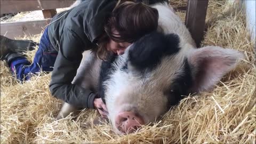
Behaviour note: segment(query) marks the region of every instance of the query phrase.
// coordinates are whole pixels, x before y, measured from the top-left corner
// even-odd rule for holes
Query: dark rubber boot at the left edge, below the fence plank
[[[6,54],[10,52],[25,52],[34,50],[34,46],[37,44],[30,40],[14,40],[5,36],[0,37],[0,60],[3,60]]]

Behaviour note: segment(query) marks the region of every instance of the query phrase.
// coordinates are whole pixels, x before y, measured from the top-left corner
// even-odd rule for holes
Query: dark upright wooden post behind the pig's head
[[[185,24],[199,47],[204,36],[205,17],[209,0],[188,1]]]

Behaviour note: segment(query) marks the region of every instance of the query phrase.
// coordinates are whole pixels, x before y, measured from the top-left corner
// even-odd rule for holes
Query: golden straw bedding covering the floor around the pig
[[[182,2],[183,3],[183,2]],[[210,1],[211,21],[202,45],[232,47],[244,52],[241,64],[217,85],[212,93],[183,99],[153,126],[118,136],[109,124],[82,129],[81,124],[97,116],[95,110],[81,111],[55,121],[59,100],[48,84],[50,74],[41,73],[24,84],[15,82],[1,62],[2,143],[255,143],[255,48],[246,32],[245,16],[226,1]],[[185,15],[179,13],[179,15]],[[39,41],[39,35],[33,37]],[[28,53],[29,60],[33,53]]]

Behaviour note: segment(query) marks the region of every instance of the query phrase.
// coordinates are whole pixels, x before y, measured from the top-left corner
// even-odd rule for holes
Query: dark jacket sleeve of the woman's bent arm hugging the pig
[[[71,84],[82,60],[82,50],[86,46],[84,41],[73,30],[63,31],[51,75],[50,91],[54,97],[75,107],[93,108],[95,94]]]

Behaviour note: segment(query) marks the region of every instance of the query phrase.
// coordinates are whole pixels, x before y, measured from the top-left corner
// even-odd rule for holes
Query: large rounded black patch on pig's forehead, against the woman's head
[[[131,65],[140,71],[154,69],[163,57],[179,52],[178,35],[164,35],[156,31],[141,37],[129,50]]]

